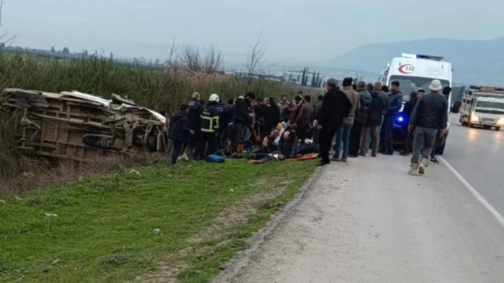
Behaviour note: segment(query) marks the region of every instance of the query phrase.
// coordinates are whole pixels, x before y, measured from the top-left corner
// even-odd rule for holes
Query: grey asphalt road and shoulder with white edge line
[[[330,164],[213,282],[504,282],[504,132],[452,126],[453,170]]]

